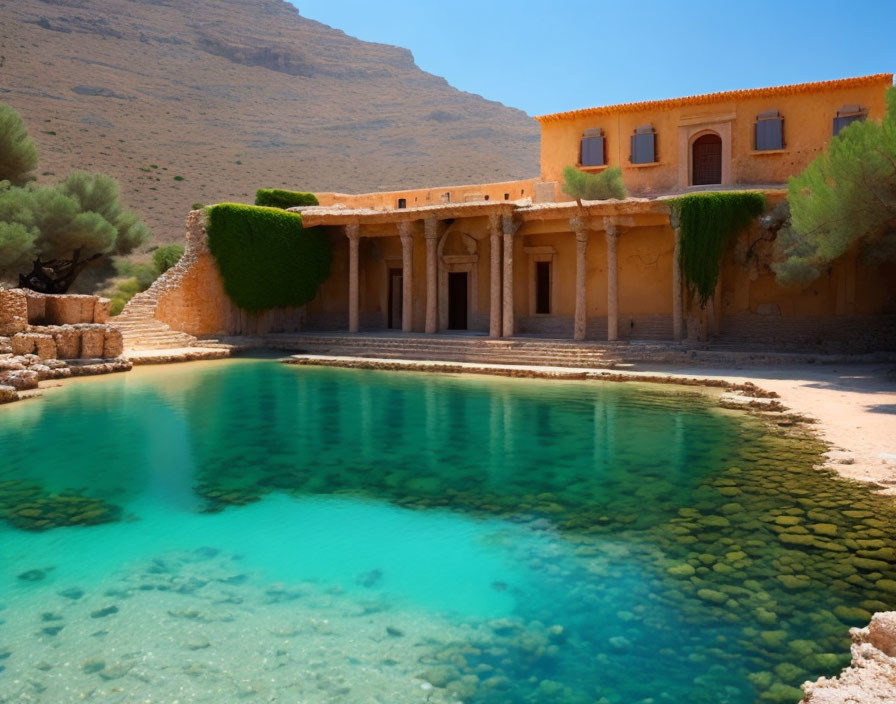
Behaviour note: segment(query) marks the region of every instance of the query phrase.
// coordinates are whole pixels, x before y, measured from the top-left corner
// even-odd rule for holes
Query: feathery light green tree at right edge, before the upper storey
[[[775,241],[783,284],[805,283],[858,246],[867,261],[896,259],[896,88],[882,122],[854,122],[790,179],[792,226]]]

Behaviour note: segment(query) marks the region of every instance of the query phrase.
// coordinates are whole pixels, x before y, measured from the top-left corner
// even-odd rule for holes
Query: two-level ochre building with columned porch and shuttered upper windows
[[[538,179],[318,194],[320,206],[300,210],[306,226],[333,228],[333,273],[286,319],[306,330],[491,337],[896,340],[896,266],[849,253],[810,285],[783,288],[758,223],[726,254],[707,309],[688,310],[668,204],[726,189],[779,202],[839,130],[882,118],[892,84],[878,74],[544,115]],[[631,197],[580,207],[561,190],[567,165],[618,166]],[[232,314],[157,317],[192,334],[247,325]]]

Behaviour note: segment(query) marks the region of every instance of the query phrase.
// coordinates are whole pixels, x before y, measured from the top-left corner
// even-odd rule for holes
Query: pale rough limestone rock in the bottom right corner
[[[805,682],[801,704],[881,704],[896,701],[896,611],[874,614],[852,628],[852,664],[838,677]]]

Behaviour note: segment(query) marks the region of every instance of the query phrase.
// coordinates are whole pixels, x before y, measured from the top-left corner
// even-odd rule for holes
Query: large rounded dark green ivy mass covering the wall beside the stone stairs
[[[249,311],[300,306],[330,275],[330,239],[302,216],[223,203],[208,209],[209,248],[230,299]]]

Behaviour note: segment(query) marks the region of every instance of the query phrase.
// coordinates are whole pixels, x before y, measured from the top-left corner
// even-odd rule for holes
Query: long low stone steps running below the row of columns
[[[225,338],[217,344],[288,350],[295,353],[377,359],[438,360],[478,364],[517,364],[606,369],[620,364],[612,345],[571,340],[438,335],[302,335]],[[203,340],[203,346],[216,341]]]

